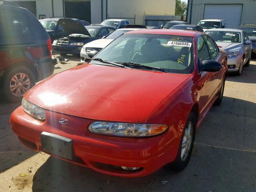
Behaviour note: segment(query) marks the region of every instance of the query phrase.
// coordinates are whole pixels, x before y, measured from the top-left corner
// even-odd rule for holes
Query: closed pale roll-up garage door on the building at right
[[[242,5],[205,5],[204,19],[223,19],[227,22],[227,28],[235,28],[240,25]]]

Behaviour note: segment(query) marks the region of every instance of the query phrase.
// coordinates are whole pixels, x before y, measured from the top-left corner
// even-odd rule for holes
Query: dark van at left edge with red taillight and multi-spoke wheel
[[[52,44],[34,14],[2,2],[0,0],[0,94],[10,102],[19,102],[36,82],[52,75]]]

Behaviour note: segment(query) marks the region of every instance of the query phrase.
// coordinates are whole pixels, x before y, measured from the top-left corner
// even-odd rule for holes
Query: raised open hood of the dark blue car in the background
[[[78,21],[68,18],[58,20],[58,24],[62,26],[67,35],[70,34],[84,34],[90,36],[88,30]]]

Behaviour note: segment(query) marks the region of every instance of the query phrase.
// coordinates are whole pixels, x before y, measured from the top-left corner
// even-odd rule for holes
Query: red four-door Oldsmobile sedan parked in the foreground
[[[90,56],[24,95],[10,118],[20,141],[115,176],[184,169],[196,128],[222,102],[226,52],[201,32],[137,30]]]

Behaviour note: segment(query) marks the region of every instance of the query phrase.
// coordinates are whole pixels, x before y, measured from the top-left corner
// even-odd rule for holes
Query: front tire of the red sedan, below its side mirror
[[[184,131],[182,133],[182,137],[180,139],[178,154],[177,154],[175,160],[171,163],[171,169],[174,171],[182,171],[188,165],[188,162],[190,160],[190,156],[192,153],[192,149],[194,146],[194,141],[195,141],[196,124],[197,124],[196,115],[193,112],[191,112],[188,115],[188,120],[186,122]],[[192,125],[192,127],[191,127],[191,125]],[[192,130],[192,133],[191,133],[191,138],[190,138],[190,145],[187,146],[189,148],[185,149],[185,151],[184,151],[184,148],[182,148],[182,143],[184,143],[184,135],[185,135],[185,132],[186,132],[186,129],[188,128],[188,126],[190,126],[190,132]],[[188,132],[186,132],[186,133],[188,133]]]

